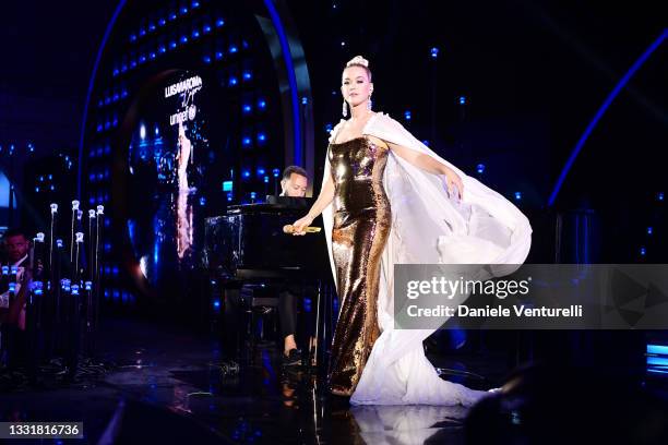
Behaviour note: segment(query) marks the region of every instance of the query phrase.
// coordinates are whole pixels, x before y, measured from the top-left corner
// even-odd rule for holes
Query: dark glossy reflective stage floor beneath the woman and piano
[[[629,388],[596,375],[545,371],[524,375],[515,389],[511,378],[506,387],[514,396],[494,396],[472,410],[349,407],[323,396],[309,370],[283,371],[272,344],[257,347],[238,374],[226,373],[211,338],[115,320],[105,322],[98,350],[109,363],[104,373],[68,385],[47,378],[38,387],[16,377],[11,387],[5,380],[0,394],[1,421],[83,421],[84,440],[2,443],[668,443],[654,442],[667,437],[661,380]],[[448,370],[444,377],[478,389],[503,383],[510,371],[505,357],[489,352],[432,361]],[[640,431],[644,442],[628,435]]]

